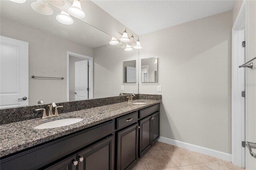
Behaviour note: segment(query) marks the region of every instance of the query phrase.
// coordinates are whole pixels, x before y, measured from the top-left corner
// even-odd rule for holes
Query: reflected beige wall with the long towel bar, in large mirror
[[[1,17],[1,36],[28,42],[29,105],[66,101],[67,51],[93,57],[93,48]],[[64,80],[31,76],[64,77]]]

